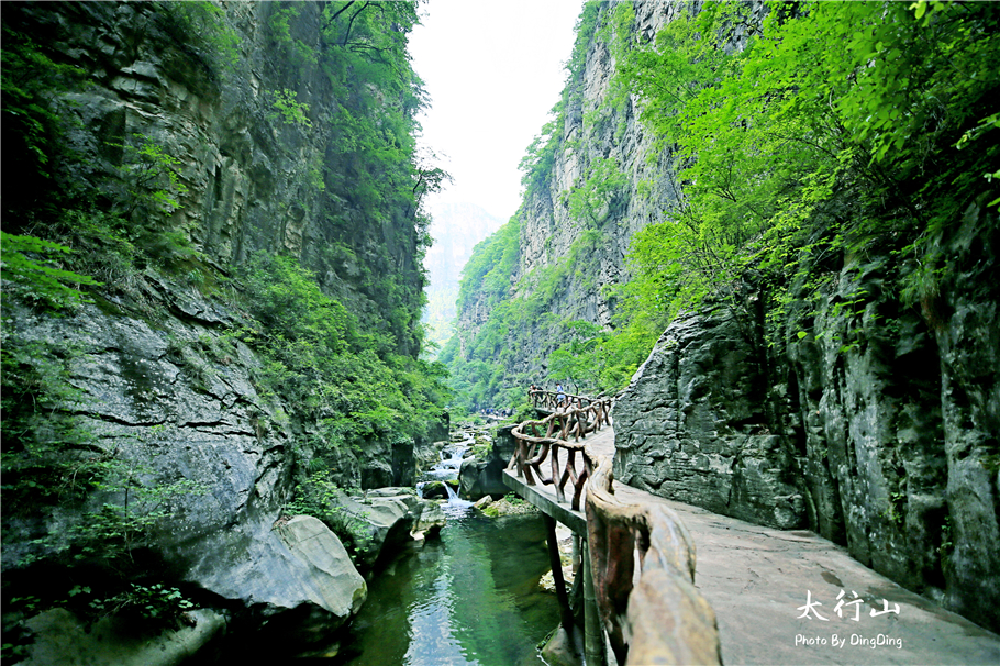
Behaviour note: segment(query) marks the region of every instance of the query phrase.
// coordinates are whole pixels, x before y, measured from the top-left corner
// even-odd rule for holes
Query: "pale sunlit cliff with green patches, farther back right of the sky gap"
[[[442,359],[484,404],[519,401],[521,388],[545,379],[567,323],[611,326],[610,288],[627,275],[632,235],[677,198],[669,149],[643,129],[635,99],[612,85],[611,9],[585,8],[563,100],[525,158],[515,221],[473,257],[484,269],[467,271],[457,334]],[[653,35],[678,11],[686,10],[637,3],[630,30]]]

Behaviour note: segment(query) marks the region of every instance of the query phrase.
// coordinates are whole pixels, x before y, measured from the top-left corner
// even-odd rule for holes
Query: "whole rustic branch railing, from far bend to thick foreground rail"
[[[536,407],[557,409],[549,402],[556,393],[531,395],[533,402],[537,396]],[[666,504],[632,504],[615,497],[611,459],[591,454],[579,441],[610,425],[610,400],[567,396],[569,400],[576,407],[511,431],[518,446],[508,469],[514,468],[529,486],[536,485],[535,477],[554,485],[559,502],[566,502],[564,487],[571,482],[574,511],[580,510],[586,492],[593,591],[618,663],[721,664],[715,613],[695,587],[695,547],[687,528]],[[546,458],[547,477],[542,473]]]

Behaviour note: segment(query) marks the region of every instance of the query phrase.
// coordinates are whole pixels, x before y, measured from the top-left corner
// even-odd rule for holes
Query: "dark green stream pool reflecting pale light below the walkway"
[[[555,629],[541,517],[489,519],[467,502],[444,507],[440,540],[413,544],[376,576],[341,643],[351,666],[538,666],[537,643]]]

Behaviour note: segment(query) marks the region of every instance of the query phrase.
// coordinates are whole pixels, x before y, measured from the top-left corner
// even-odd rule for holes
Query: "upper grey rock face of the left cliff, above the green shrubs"
[[[360,202],[353,157],[337,135],[331,78],[296,51],[322,48],[323,3],[298,4],[289,20],[296,45],[276,36],[280,4],[226,2],[222,9],[221,26],[235,40],[232,53],[216,53],[218,35],[181,32],[192,26],[178,22],[170,3],[19,8],[19,29],[45,35],[55,57],[79,67],[87,82],[65,92],[67,112],[79,120],[67,140],[85,157],[70,165],[69,178],[119,195],[108,190],[109,176],[129,159],[123,146],[134,144],[135,134],[146,136],[180,160],[187,188],[177,195],[180,207],[158,213],[157,224],[182,231],[222,269],[262,249],[295,256],[367,324],[377,325],[391,308],[408,308],[415,314],[409,329],[393,333],[399,353],[419,353],[416,211]],[[308,104],[308,126],[286,122],[276,110],[275,96],[286,90]],[[371,275],[389,276],[393,288]]]

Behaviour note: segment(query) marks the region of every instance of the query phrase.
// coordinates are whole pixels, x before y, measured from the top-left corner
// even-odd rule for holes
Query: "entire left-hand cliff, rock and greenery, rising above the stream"
[[[86,576],[109,578],[92,551],[107,536],[109,551],[136,540],[130,566],[143,580],[182,581],[210,604],[259,617],[297,609],[305,633],[364,600],[343,547],[318,559],[274,530],[318,466],[342,486],[412,484],[421,430],[370,413],[357,395],[301,390],[335,360],[309,354],[349,352],[342,388],[381,386],[388,403],[392,373],[416,363],[422,338],[416,81],[365,79],[378,66],[356,71],[348,40],[382,38],[384,59],[404,55],[413,8],[349,25],[337,9],[4,8],[4,67],[10,49],[43,74],[66,73],[38,93],[53,110],[44,118],[62,123],[46,173],[13,173],[13,157],[48,144],[13,136],[4,115],[4,232],[77,243],[59,251],[85,257],[68,266],[103,282],[52,313],[37,282],[24,282],[34,268],[15,273],[15,246],[4,247],[4,595],[58,598],[62,571],[41,581],[23,571],[67,553]],[[4,73],[10,118],[26,65],[20,79]],[[33,148],[15,155],[22,144]],[[29,259],[44,254],[26,247]],[[276,255],[292,259],[270,259],[280,275],[254,264]],[[295,317],[309,320],[285,321]],[[307,332],[293,340],[286,331],[298,324]],[[304,369],[288,373],[297,356]],[[354,434],[336,444],[345,429]],[[101,532],[101,515],[125,521],[129,543]]]

